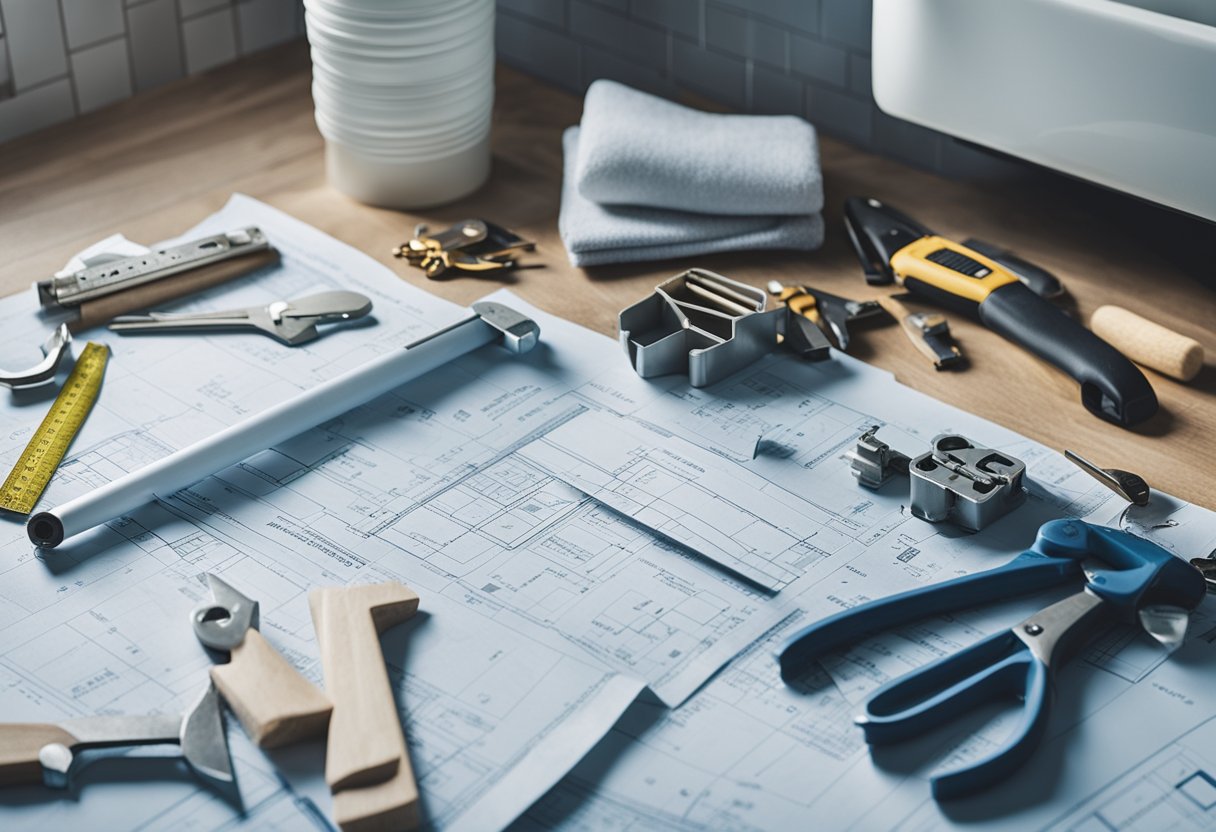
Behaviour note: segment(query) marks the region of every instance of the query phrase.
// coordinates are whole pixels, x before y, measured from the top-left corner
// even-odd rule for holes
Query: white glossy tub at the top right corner
[[[1216,221],[1212,23],[1216,0],[874,0],[874,97]]]

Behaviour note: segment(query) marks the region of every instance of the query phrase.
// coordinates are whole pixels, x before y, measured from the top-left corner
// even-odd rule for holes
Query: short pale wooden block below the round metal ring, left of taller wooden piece
[[[227,664],[212,668],[212,680],[263,748],[319,736],[330,724],[330,701],[257,630],[244,634]]]

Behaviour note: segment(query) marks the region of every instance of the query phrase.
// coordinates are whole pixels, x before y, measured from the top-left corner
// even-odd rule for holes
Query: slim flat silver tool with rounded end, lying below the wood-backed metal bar
[[[123,315],[109,324],[114,332],[179,332],[201,330],[254,330],[295,347],[320,337],[317,324],[338,324],[367,315],[372,302],[358,292],[320,292],[265,307],[213,313],[148,313]]]

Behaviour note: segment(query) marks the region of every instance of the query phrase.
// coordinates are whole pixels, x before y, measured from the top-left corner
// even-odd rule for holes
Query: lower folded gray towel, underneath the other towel
[[[811,249],[823,242],[823,218],[818,214],[714,217],[597,204],[579,192],[575,174],[581,156],[579,135],[576,127],[562,134],[565,163],[562,213],[557,220],[570,263],[576,266],[761,248]]]

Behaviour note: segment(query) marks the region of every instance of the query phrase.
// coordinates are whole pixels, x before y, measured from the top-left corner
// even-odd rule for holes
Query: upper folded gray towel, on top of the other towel
[[[704,113],[597,80],[581,127],[574,179],[592,202],[732,215],[823,209],[818,140],[796,116]]]

